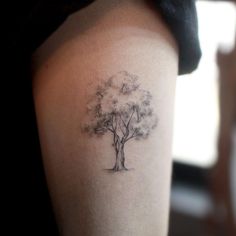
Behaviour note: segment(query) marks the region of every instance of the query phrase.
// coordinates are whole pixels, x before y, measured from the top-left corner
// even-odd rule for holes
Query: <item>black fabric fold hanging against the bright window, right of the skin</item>
[[[179,45],[179,74],[195,70],[201,58],[194,0],[155,1]]]

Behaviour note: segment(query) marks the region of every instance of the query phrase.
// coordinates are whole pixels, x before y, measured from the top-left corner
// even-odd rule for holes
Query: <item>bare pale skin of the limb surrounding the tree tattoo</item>
[[[33,94],[47,182],[62,236],[166,236],[178,48],[144,0],[98,0],[73,14],[33,57]],[[114,165],[111,132],[83,132],[101,81],[119,71],[152,94],[157,126]],[[131,167],[131,168],[130,168]],[[130,169],[129,169],[130,168]]]

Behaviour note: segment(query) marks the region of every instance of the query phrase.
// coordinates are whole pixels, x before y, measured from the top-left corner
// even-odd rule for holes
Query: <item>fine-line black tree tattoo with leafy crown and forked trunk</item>
[[[83,125],[83,130],[90,135],[112,135],[115,150],[112,171],[128,170],[125,145],[132,139],[148,138],[157,126],[151,101],[150,92],[140,88],[138,76],[121,71],[102,81],[88,102],[89,123]]]

